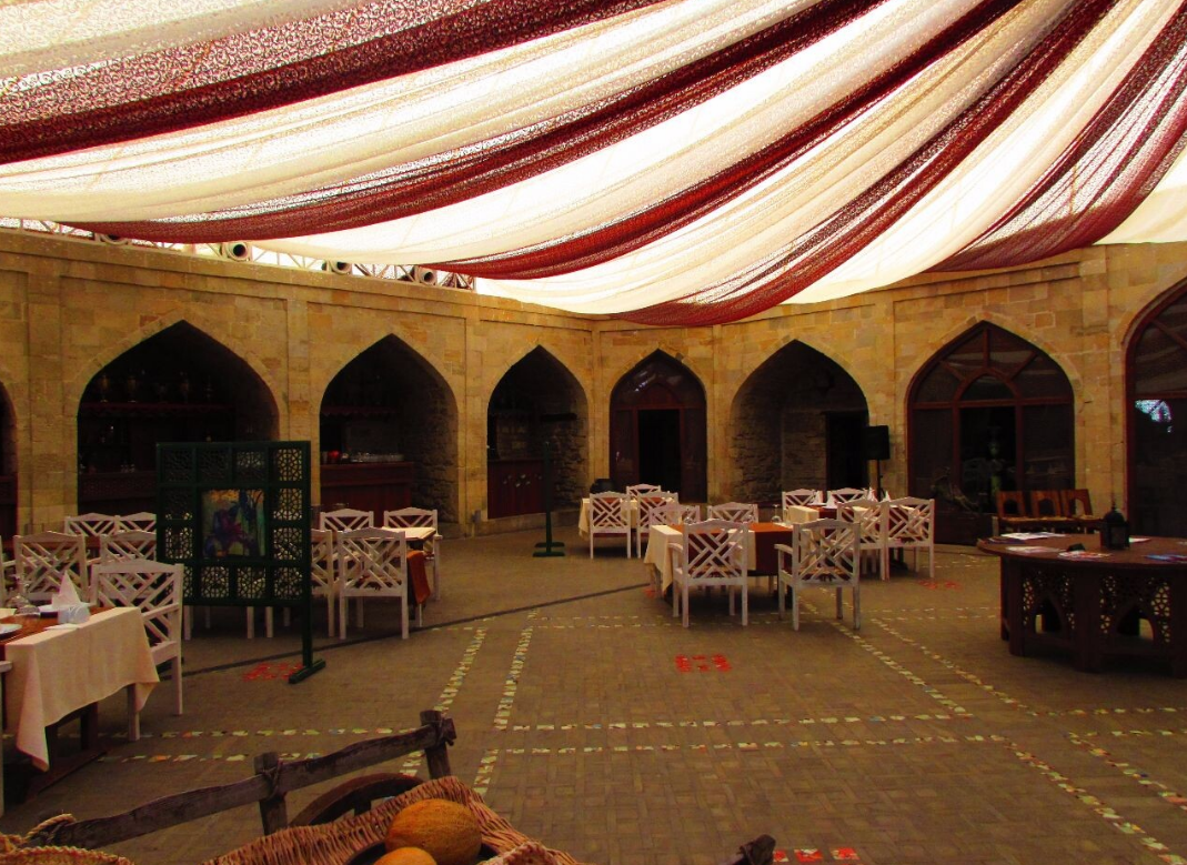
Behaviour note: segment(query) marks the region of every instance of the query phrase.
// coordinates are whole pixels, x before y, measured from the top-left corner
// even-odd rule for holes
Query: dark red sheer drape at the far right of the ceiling
[[[1088,246],[1150,193],[1187,144],[1187,8],[997,224],[934,271],[1007,267]]]

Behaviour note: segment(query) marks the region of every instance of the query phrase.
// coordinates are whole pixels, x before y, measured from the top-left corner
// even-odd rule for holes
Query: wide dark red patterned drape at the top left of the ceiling
[[[279,108],[660,1],[439,0],[426,14],[421,4],[374,0],[49,75],[0,90],[0,164]]]

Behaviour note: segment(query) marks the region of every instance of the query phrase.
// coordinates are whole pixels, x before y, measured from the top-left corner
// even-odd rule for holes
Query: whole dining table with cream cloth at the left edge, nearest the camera
[[[5,731],[40,772],[32,791],[102,755],[101,700],[126,689],[131,719],[159,678],[134,606],[97,610],[78,624],[59,624],[52,613],[0,619],[0,631],[13,625],[18,630],[0,634],[0,657],[12,666],[5,674]],[[82,720],[82,750],[55,753],[57,724],[75,715]]]

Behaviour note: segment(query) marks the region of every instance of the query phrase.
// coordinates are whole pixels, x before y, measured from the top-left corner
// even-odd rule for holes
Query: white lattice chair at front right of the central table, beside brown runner
[[[853,630],[862,628],[861,561],[857,526],[842,520],[813,520],[795,527],[792,546],[779,553],[779,618],[786,610],[785,590],[792,593],[792,627],[800,629],[800,592],[831,589],[837,593],[837,618],[844,618],[842,594],[853,594]]]

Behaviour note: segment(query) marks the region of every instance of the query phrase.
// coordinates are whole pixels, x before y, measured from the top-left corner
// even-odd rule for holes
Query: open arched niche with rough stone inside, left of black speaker
[[[792,342],[743,382],[734,399],[734,495],[779,502],[781,490],[865,486],[865,394],[827,356]]]

